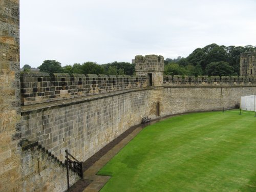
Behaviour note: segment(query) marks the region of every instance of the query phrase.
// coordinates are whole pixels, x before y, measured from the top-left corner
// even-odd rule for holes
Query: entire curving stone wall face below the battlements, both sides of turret
[[[233,108],[251,86],[165,86],[54,101],[22,108],[22,137],[38,141],[61,161],[68,149],[85,161],[141,118]],[[160,113],[157,115],[157,103]]]

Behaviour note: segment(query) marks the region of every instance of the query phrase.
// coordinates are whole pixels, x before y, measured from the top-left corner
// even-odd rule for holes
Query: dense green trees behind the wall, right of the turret
[[[219,75],[237,76],[240,71],[240,54],[256,51],[256,46],[219,46],[210,44],[197,48],[186,58],[166,59],[166,75]]]

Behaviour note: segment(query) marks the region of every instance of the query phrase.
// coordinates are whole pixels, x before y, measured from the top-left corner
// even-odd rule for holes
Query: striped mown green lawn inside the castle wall
[[[256,117],[207,112],[145,127],[98,175],[103,191],[256,191]]]

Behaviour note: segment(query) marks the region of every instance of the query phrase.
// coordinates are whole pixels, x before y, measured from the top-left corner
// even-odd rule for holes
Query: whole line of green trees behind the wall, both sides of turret
[[[219,46],[210,44],[204,48],[197,48],[186,58],[164,61],[166,75],[225,75],[237,76],[240,71],[240,54],[256,51],[256,46]],[[24,71],[30,71],[25,65]],[[61,67],[56,60],[45,60],[38,69],[40,72],[52,73],[80,73],[80,74],[108,74],[108,75],[135,75],[135,65],[130,62],[111,62],[99,65],[97,62],[74,63]]]

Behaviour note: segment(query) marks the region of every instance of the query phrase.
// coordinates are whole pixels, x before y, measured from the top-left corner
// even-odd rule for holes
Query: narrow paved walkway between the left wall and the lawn
[[[83,192],[98,192],[105,183],[111,178],[110,176],[96,175],[101,167],[108,163],[127,143],[129,143],[140,131],[142,126],[137,127],[130,135],[125,137],[117,145],[115,145],[108,153],[102,156],[91,167],[83,172],[83,179],[92,180],[93,182],[88,185]]]

